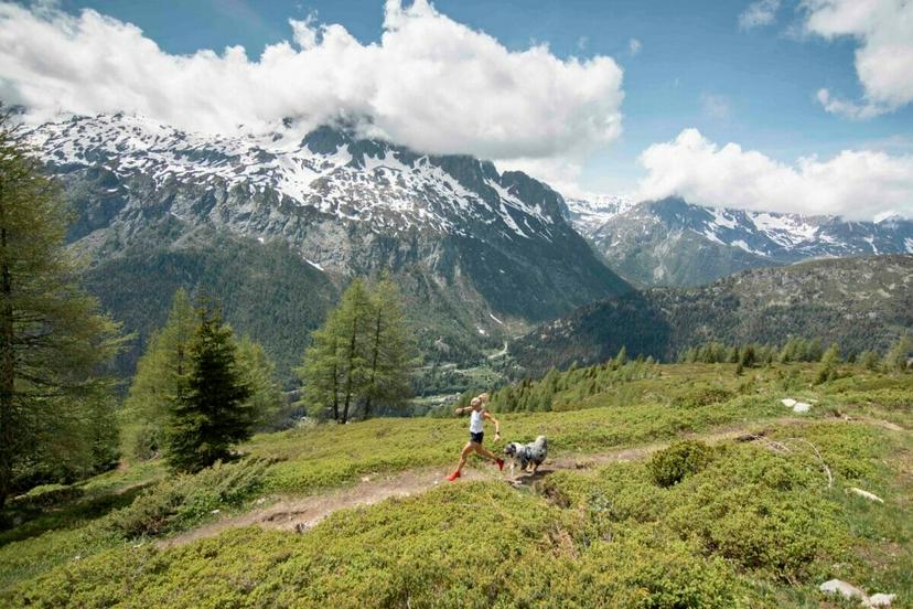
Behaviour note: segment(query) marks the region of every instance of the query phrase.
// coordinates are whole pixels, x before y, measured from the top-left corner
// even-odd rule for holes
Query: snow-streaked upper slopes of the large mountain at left
[[[498,174],[491,162],[429,157],[320,128],[288,133],[207,138],[136,116],[77,117],[35,130],[33,143],[57,165],[99,165],[119,178],[143,175],[152,188],[240,188],[377,232],[412,227],[469,236],[468,221],[496,225],[505,237],[550,239],[559,197],[549,189],[518,196],[525,175]],[[471,168],[461,165],[475,165]],[[466,169],[477,173],[460,181]],[[527,181],[529,179],[526,179]]]

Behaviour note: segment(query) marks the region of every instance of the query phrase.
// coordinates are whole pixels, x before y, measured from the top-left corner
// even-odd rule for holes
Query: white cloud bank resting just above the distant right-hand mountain
[[[678,195],[692,203],[759,211],[913,217],[913,156],[844,150],[828,160],[778,162],[737,143],[719,147],[697,129],[640,156],[642,199]]]

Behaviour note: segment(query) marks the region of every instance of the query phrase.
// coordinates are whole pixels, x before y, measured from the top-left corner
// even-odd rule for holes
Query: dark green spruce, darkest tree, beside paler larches
[[[232,445],[248,439],[256,423],[232,330],[206,302],[197,316],[186,385],[171,402],[165,426],[167,459],[176,471],[198,471],[229,458]]]

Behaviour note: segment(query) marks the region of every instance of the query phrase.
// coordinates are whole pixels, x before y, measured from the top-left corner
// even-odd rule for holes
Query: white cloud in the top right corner
[[[818,92],[824,108],[866,119],[913,101],[913,2],[909,0],[803,0],[805,31],[835,39],[852,36],[856,73],[863,88],[861,103]]]

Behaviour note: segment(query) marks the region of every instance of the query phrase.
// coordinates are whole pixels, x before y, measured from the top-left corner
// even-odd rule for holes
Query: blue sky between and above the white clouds
[[[853,1],[858,0],[760,0],[755,3],[766,3],[769,8],[772,4],[776,10],[771,23],[751,29],[740,28],[739,21],[751,4],[749,0],[437,0],[433,8],[449,20],[493,36],[509,52],[547,44],[550,54],[560,61],[609,56],[623,70],[620,92],[624,98],[617,108],[622,116],[621,135],[590,142],[586,153],[569,153],[572,164],[580,170],[571,177],[576,188],[613,193],[637,190],[647,172],[638,164],[638,156],[653,145],[675,140],[685,129],[697,129],[702,139],[690,139],[698,142],[698,148],[735,142],[742,151],[763,154],[764,163],[782,163],[794,172],[799,172],[799,158],[828,161],[842,150],[881,152],[890,157],[885,162],[907,163],[913,153],[913,104],[904,101],[910,98],[909,89],[900,90],[900,97],[893,98],[901,103],[893,101],[889,109],[883,109],[887,94],[880,92],[881,98],[873,97],[871,86],[860,79],[855,54],[867,40],[889,40],[888,35],[903,39],[906,31],[883,36],[878,32],[902,22],[896,15],[904,11],[910,18],[913,9],[903,7],[902,0],[867,0],[881,6],[881,22],[860,24],[847,18],[836,26],[818,26],[817,34],[803,29],[812,23],[810,7],[833,4],[826,8],[839,12],[840,4],[850,6]],[[406,7],[409,3],[405,2]],[[241,45],[251,62],[257,62],[268,45],[292,40],[289,19],[315,15],[314,24],[341,24],[363,45],[380,40],[385,20],[384,3],[368,0],[63,0],[58,7],[73,15],[92,8],[132,23],[168,54],[187,55],[204,49],[222,53],[226,46]],[[858,15],[852,19],[859,21]],[[913,23],[913,18],[906,23]],[[823,34],[826,28],[838,35]],[[850,35],[839,35],[840,28]],[[913,31],[909,33],[913,41]],[[637,41],[636,53],[632,52],[633,40]],[[867,119],[826,111],[816,98],[823,88],[850,103],[876,99],[882,109]],[[529,129],[535,129],[531,125]],[[668,153],[679,154],[684,146]],[[490,149],[481,147],[480,154]],[[549,160],[563,161],[562,154],[558,151]],[[663,157],[656,161],[657,167],[663,162],[672,167],[678,158]],[[738,171],[752,171],[752,162],[739,160]],[[896,175],[900,171],[906,180],[905,172],[913,172],[911,168],[895,163],[880,174]],[[778,171],[773,165],[767,169]],[[835,165],[824,170],[837,169]],[[567,178],[546,169],[540,177],[559,183]],[[666,175],[653,178],[656,183],[668,182]],[[872,180],[870,175],[863,178]],[[686,182],[691,184],[694,180],[683,180],[668,188],[716,203],[709,200],[717,196],[713,193],[719,189],[699,184],[688,191]],[[853,192],[861,192],[864,185],[856,184]],[[904,182],[901,186],[900,194],[892,191],[900,201],[892,209],[913,210],[913,203],[909,207],[903,203],[913,197],[913,185]],[[846,206],[847,196],[841,196]],[[827,207],[826,202],[820,205]],[[836,203],[833,207],[824,211],[845,212]]]

